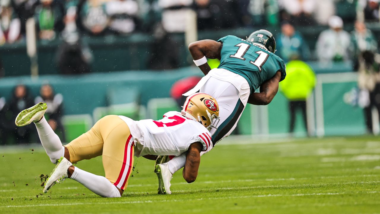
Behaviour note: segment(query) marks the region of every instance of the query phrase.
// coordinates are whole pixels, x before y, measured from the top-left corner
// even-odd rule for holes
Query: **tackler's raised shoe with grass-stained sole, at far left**
[[[22,110],[14,121],[16,126],[26,126],[32,122],[38,122],[44,116],[47,105],[44,102],[40,102],[29,109]]]

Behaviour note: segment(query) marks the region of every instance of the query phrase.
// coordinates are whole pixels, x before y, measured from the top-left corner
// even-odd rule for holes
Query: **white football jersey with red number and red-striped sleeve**
[[[139,120],[119,116],[127,123],[135,141],[135,156],[174,155],[187,151],[193,142],[201,142],[203,151],[212,149],[210,132],[202,124],[179,112],[167,112],[161,120]]]

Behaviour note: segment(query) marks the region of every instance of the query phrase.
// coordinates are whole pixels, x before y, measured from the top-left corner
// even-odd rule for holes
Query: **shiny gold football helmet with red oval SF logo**
[[[209,131],[219,123],[219,105],[214,97],[195,93],[186,98],[182,115],[201,123]]]

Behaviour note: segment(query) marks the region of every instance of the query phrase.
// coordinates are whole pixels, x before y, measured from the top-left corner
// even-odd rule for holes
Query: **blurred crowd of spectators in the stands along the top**
[[[0,6],[0,44],[25,45],[26,22],[32,18],[39,44],[61,42],[55,64],[62,74],[90,72],[92,51],[82,37],[133,33],[154,41],[146,69],[181,67],[181,59],[170,56],[184,50],[177,47],[173,34],[185,32],[188,11],[195,12],[200,31],[278,29],[277,54],[285,61],[348,61],[358,57],[358,49],[377,48],[364,23],[379,21],[378,0],[0,0]],[[345,25],[352,30],[356,20],[351,35],[343,30]],[[330,30],[305,41],[300,30],[313,30],[310,26]]]

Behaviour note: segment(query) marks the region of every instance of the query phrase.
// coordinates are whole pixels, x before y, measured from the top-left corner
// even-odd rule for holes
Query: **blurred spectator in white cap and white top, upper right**
[[[330,29],[319,35],[316,44],[317,57],[321,62],[339,62],[350,59],[350,34],[343,30],[343,21],[339,16],[329,19]]]

